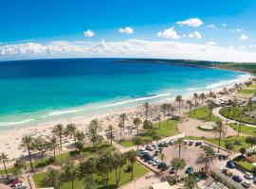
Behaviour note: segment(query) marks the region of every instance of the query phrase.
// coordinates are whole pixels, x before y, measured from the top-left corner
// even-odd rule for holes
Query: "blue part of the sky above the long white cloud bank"
[[[62,45],[79,41],[106,46],[107,42],[144,40],[256,50],[255,0],[1,0],[0,10],[1,60],[19,59],[23,52],[11,58],[9,44],[29,43],[27,48],[33,48],[31,43],[60,41]],[[26,59],[26,54],[21,57]]]

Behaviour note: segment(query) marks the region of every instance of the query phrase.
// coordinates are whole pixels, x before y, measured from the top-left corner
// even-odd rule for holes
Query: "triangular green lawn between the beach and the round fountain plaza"
[[[211,117],[209,116],[209,108],[208,106],[203,106],[200,108],[197,108],[192,110],[191,112],[188,112],[187,115],[194,118],[194,119],[200,119],[203,121],[221,121],[219,117],[216,117],[215,115],[211,114]]]

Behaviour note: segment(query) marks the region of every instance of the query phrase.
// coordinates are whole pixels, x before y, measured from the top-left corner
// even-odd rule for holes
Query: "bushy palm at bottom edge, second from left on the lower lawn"
[[[71,181],[71,189],[74,189],[74,181],[78,176],[78,168],[74,163],[69,163],[64,166],[64,180]]]

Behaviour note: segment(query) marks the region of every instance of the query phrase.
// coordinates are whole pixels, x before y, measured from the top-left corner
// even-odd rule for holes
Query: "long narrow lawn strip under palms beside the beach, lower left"
[[[107,147],[111,147],[109,146],[106,142],[102,142],[99,146],[95,146],[94,148],[92,146],[87,146],[84,147],[82,150],[82,153],[79,153],[78,151],[70,151],[67,153],[63,153],[60,155],[56,156],[56,163],[62,163],[63,161],[69,160],[71,158],[75,158],[76,156],[90,156],[94,153],[96,153],[97,151],[101,150],[102,148],[107,148]],[[46,165],[52,164],[53,162],[50,160],[50,158],[45,158],[45,159],[41,159],[41,160],[36,160],[33,162],[33,166],[35,168],[39,168],[39,167],[44,167]],[[27,166],[29,167],[29,164],[27,163]],[[8,169],[9,173],[12,172],[13,167],[10,167]],[[0,170],[0,175],[4,175],[5,174],[5,170]]]

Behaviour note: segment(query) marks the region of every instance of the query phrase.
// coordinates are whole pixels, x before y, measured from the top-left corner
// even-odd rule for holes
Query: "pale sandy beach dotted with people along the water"
[[[254,77],[252,75],[249,75],[250,77],[247,78],[249,80],[251,77]],[[233,87],[235,83],[240,82],[246,82],[247,80],[240,80],[233,82],[231,84],[226,85],[226,88]],[[182,95],[183,100],[192,99],[193,93],[205,93],[208,94],[210,91],[218,93],[220,92],[224,87],[220,86],[216,89],[207,89],[207,90],[195,90],[190,91],[188,94]],[[18,158],[21,155],[26,155],[22,150],[18,149],[20,145],[21,137],[25,134],[32,134],[33,136],[46,136],[49,135],[51,132],[51,128],[56,124],[63,124],[66,126],[69,123],[75,123],[78,126],[78,129],[82,129],[83,131],[86,129],[86,125],[94,118],[98,118],[102,121],[104,129],[108,125],[113,125],[116,129],[119,130],[118,127],[118,121],[119,121],[119,114],[121,112],[126,112],[128,114],[128,117],[131,119],[127,122],[128,127],[132,127],[132,119],[135,118],[137,115],[142,117],[143,116],[143,110],[141,108],[141,104],[143,104],[145,101],[141,101],[140,104],[137,104],[135,106],[127,106],[122,108],[110,109],[106,112],[94,112],[91,114],[86,115],[80,115],[80,116],[73,116],[72,118],[64,118],[61,120],[53,120],[43,123],[38,123],[35,125],[27,125],[27,126],[19,126],[19,127],[13,127],[11,129],[7,130],[1,130],[1,138],[0,138],[0,151],[5,151],[9,154],[10,159]],[[154,107],[154,111],[157,111],[159,108],[159,105],[163,102],[170,102],[175,105],[174,97],[168,98],[168,99],[162,99],[157,100],[156,102],[150,103],[151,107]]]

